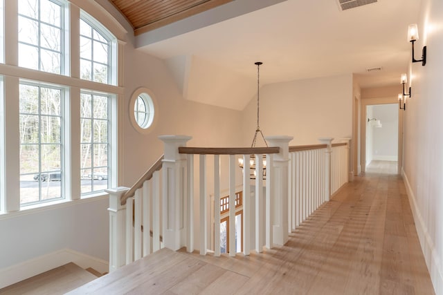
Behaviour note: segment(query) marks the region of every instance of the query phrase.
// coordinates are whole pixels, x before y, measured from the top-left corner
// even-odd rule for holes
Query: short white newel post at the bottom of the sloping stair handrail
[[[109,193],[109,272],[126,264],[125,208],[120,198],[129,191],[127,187],[106,189]]]

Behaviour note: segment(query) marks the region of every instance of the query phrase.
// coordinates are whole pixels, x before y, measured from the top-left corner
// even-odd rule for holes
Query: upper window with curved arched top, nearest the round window
[[[111,83],[111,42],[105,34],[80,19],[80,77],[93,82]]]

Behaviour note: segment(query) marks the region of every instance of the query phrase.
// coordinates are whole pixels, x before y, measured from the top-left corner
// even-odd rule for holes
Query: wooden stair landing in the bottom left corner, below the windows
[[[0,294],[64,294],[96,278],[75,263],[67,263],[0,289]]]

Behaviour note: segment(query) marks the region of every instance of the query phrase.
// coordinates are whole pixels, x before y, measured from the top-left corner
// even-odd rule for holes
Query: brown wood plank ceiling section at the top
[[[125,15],[134,34],[166,26],[233,0],[109,0]]]

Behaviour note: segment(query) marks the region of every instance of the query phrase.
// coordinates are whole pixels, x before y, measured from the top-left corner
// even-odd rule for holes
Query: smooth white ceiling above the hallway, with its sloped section
[[[251,3],[233,1],[140,35],[136,44],[165,59],[186,99],[237,110],[255,94],[255,61],[263,62],[261,85],[354,73],[361,88],[372,88],[399,84],[406,73],[407,28],[417,22],[420,0],[345,11],[336,0],[254,1],[273,5],[233,17],[228,12]],[[366,71],[374,67],[382,70]]]

